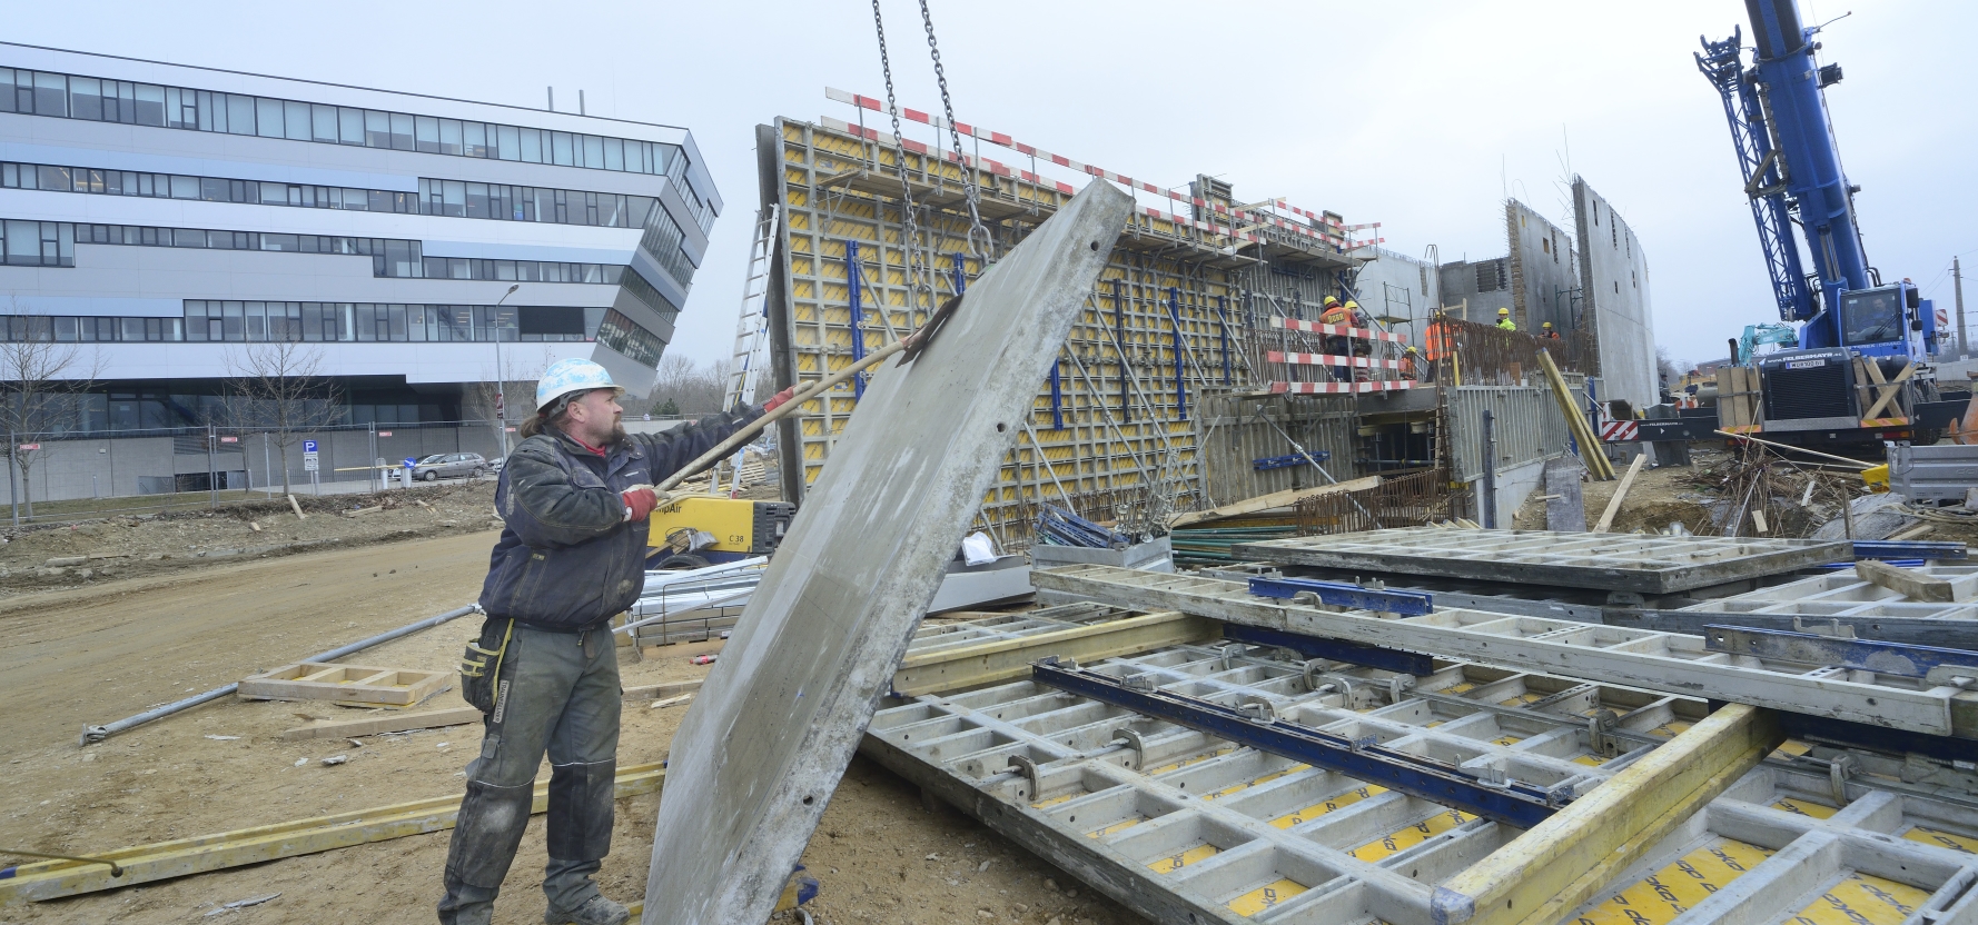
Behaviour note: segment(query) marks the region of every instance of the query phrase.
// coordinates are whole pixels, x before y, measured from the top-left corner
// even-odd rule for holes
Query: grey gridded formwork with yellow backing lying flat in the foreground
[[[1149,646],[1088,668],[1183,702],[1268,704],[1280,723],[1580,800],[1628,787],[1707,723],[1707,706],[1681,696],[1280,652]],[[1509,868],[1533,858],[1511,824],[1161,715],[1033,680],[896,704],[866,755],[1153,921],[1927,925],[1978,911],[1978,777],[1925,779],[1873,753],[1786,743],[1654,828],[1624,866],[1535,893],[1561,864]],[[1519,905],[1466,905],[1480,883]],[[1578,899],[1523,905],[1557,895]]]

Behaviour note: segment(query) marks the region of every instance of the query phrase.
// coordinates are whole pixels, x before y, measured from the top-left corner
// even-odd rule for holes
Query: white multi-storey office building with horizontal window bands
[[[684,128],[0,43],[0,336],[77,344],[83,431],[283,340],[342,423],[487,417],[494,338],[641,397],[720,208]]]

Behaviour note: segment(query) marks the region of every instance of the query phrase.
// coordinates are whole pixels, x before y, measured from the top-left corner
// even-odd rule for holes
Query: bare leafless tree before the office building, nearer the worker
[[[281,459],[281,492],[291,494],[289,447],[342,415],[336,387],[322,376],[322,350],[271,340],[227,352],[225,366],[227,425],[267,435]]]

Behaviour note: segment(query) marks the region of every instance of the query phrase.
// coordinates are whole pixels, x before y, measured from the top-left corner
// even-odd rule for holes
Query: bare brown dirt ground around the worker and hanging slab
[[[392,530],[445,520],[411,508],[360,518],[362,530],[382,524],[386,532],[378,536],[394,536]],[[14,561],[45,559],[57,549],[164,546],[180,540],[178,528],[184,528],[182,547],[249,540],[241,534],[245,522],[190,520],[63,538],[30,534],[0,547],[0,565],[20,567]],[[370,735],[360,745],[279,741],[305,715],[364,715],[334,706],[225,700],[99,745],[77,745],[85,723],[131,715],[473,601],[494,534],[469,532],[465,520],[441,530],[433,538],[267,559],[194,559],[192,567],[136,577],[115,577],[113,569],[113,577],[81,579],[81,587],[0,599],[0,714],[10,717],[0,745],[6,781],[0,848],[89,854],[461,793],[463,767],[479,751],[479,725]],[[16,549],[22,544],[47,546],[24,555]],[[477,619],[469,617],[346,662],[451,670],[475,631]],[[710,668],[688,658],[718,648],[720,642],[653,648],[639,662],[621,650],[623,682],[704,676]],[[425,706],[459,704],[449,690]],[[667,757],[680,715],[682,708],[627,702],[619,763]],[[324,767],[320,761],[332,755],[348,755],[348,763]],[[613,854],[599,876],[609,895],[631,899],[643,889],[657,808],[659,795],[619,800]],[[431,921],[447,838],[445,832],[407,836],[0,907],[0,923]],[[498,923],[542,921],[536,883],[544,860],[542,816],[536,816],[504,885]],[[1141,921],[961,812],[930,812],[914,787],[862,759],[833,797],[803,862],[823,883],[811,905],[823,923]],[[222,903],[275,891],[281,895],[273,901],[208,919]]]

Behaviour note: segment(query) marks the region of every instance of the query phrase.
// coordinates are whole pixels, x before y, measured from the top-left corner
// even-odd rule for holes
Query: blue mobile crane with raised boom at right
[[[1867,261],[1853,208],[1861,188],[1847,182],[1828,123],[1826,89],[1842,67],[1816,59],[1820,28],[1802,24],[1794,0],[1745,0],[1745,8],[1756,43],[1751,65],[1743,32],[1733,30],[1723,42],[1703,40],[1697,67],[1731,121],[1778,316],[1798,326],[1796,350],[1739,358],[1758,368],[1762,389],[1762,423],[1747,429],[1790,443],[1934,443],[1929,431],[1952,413],[1929,366],[1936,314],[1915,285],[1883,283]],[[1895,395],[1881,401],[1885,391]]]

